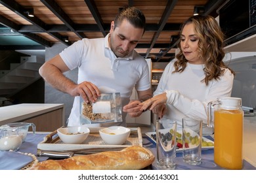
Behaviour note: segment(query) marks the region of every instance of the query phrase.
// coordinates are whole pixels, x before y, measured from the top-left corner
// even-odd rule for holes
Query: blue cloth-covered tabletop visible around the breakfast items
[[[26,164],[31,163],[31,159],[26,159],[26,154],[33,154],[38,161],[45,161],[48,157],[37,156],[37,144],[43,141],[44,137],[48,135],[47,132],[37,131],[35,134],[28,133],[26,141],[22,143],[17,152],[0,152],[0,170],[19,170],[24,169]],[[212,136],[205,136],[207,139],[213,141]],[[144,148],[148,148],[155,156],[155,160],[152,165],[146,167],[149,170],[158,170],[156,163],[156,143],[152,141],[148,135],[142,133],[142,145]],[[219,167],[213,160],[214,149],[209,148],[202,150],[202,163],[200,165],[188,165],[184,163],[182,159],[182,151],[176,154],[176,168],[177,170],[224,170],[223,167]],[[243,170],[255,170],[256,167],[252,163],[249,163],[246,159],[243,160]]]

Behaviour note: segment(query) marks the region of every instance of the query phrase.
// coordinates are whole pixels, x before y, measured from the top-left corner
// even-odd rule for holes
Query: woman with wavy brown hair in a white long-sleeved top
[[[144,101],[141,110],[150,107],[160,118],[180,125],[185,116],[206,124],[207,103],[230,97],[232,91],[234,71],[223,62],[223,39],[213,17],[188,18],[182,25],[177,60],[165,67],[154,97]]]

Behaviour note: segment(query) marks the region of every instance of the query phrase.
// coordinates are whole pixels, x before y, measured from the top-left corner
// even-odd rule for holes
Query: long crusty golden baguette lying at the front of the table
[[[72,158],[49,159],[33,165],[30,170],[139,170],[151,165],[155,157],[141,146],[120,151],[107,151]]]

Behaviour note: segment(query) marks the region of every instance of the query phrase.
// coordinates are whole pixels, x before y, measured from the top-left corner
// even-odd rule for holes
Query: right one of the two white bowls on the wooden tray
[[[127,141],[131,129],[122,126],[111,126],[99,130],[100,137],[110,145],[121,145]]]

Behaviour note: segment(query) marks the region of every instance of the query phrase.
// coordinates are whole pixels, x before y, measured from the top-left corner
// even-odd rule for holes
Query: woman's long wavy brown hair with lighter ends
[[[223,75],[224,68],[230,69],[223,62],[225,55],[223,50],[224,35],[212,16],[191,16],[182,25],[181,33],[187,24],[194,24],[196,35],[199,37],[198,52],[205,64],[205,78],[202,82],[207,85],[210,80],[218,80]],[[177,61],[175,61],[175,71],[173,73],[182,73],[188,62],[181,50],[181,39],[179,39],[178,47],[180,52],[176,56]],[[234,75],[234,71],[232,69],[230,71]]]

